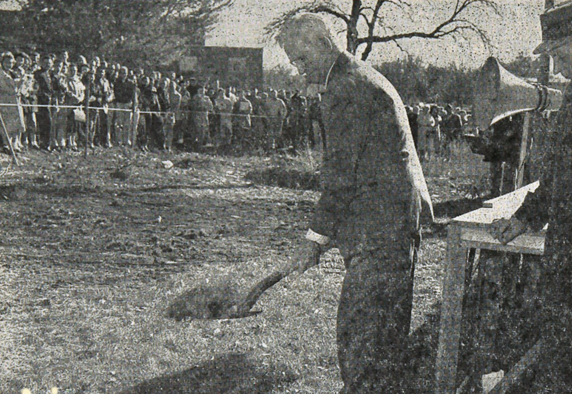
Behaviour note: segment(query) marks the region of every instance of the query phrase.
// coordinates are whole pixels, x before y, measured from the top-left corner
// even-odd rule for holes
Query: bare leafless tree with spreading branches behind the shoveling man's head
[[[454,39],[463,38],[468,41],[476,37],[484,45],[490,46],[490,39],[482,27],[474,20],[475,18],[471,15],[471,12],[482,11],[499,15],[498,6],[492,0],[451,0],[450,11],[443,18],[435,18],[435,21],[431,21],[433,23],[430,29],[426,31],[421,29],[395,31],[385,23],[388,15],[399,13],[403,18],[412,20],[411,15],[415,13],[415,1],[375,0],[375,2],[366,2],[352,0],[349,13],[341,8],[341,3],[344,2],[335,2],[333,0],[308,2],[274,19],[265,27],[266,33],[275,33],[284,22],[301,12],[332,15],[344,22],[347,39],[346,49],[355,55],[358,48],[365,45],[362,60],[366,60],[371,53],[374,43],[394,42],[402,49],[400,41],[406,38],[442,39],[451,37]],[[367,31],[364,31],[362,35],[360,35],[358,30],[361,18],[364,19],[367,26]],[[387,34],[379,34],[380,30]]]

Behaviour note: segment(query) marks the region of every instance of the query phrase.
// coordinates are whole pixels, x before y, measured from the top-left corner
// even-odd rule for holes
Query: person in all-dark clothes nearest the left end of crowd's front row
[[[34,71],[34,79],[38,86],[38,111],[36,112],[36,120],[38,122],[39,145],[47,148],[50,142],[51,119],[55,104],[55,89],[53,83],[53,67],[54,61],[51,55],[45,55],[42,58],[42,67]]]

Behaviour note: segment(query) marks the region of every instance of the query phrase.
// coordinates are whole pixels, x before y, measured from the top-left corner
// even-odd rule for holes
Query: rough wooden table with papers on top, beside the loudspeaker
[[[506,245],[490,235],[491,223],[510,218],[521,206],[528,192],[534,192],[538,182],[514,192],[484,202],[483,208],[451,220],[447,235],[447,261],[443,274],[442,309],[439,347],[436,360],[436,394],[455,394],[459,358],[459,339],[463,326],[463,295],[467,249],[486,249],[543,255],[544,232],[523,234]]]

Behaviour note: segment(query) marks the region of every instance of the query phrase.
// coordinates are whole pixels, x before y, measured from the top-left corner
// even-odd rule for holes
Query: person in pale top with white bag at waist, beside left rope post
[[[82,66],[82,65],[80,65]],[[85,99],[85,85],[81,82],[78,65],[72,64],[67,73],[66,103],[70,106],[81,106]],[[82,127],[81,119],[85,123],[85,111],[82,108],[67,110],[67,146],[78,150],[78,133]]]

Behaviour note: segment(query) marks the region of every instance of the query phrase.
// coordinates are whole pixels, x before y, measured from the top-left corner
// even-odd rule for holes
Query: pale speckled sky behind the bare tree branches
[[[351,7],[351,0],[335,0],[344,10]],[[562,0],[560,0],[562,1]],[[373,1],[372,1],[373,2]],[[395,31],[428,30],[435,21],[442,21],[448,7],[454,0],[410,0],[414,8],[414,21],[400,17],[395,10],[388,9],[387,25]],[[455,42],[452,39],[428,40],[406,39],[402,46],[408,54],[419,57],[426,64],[476,68],[493,55],[501,61],[510,61],[519,54],[529,55],[541,42],[539,15],[544,10],[544,0],[495,0],[500,15],[472,14],[473,20],[486,31],[492,47],[486,49],[478,41],[471,43]],[[284,11],[301,5],[301,0],[235,0],[220,15],[219,23],[206,39],[207,45],[264,46],[264,67],[272,68],[287,63],[287,58],[275,44],[264,42],[264,26]],[[364,3],[368,3],[365,0]],[[394,11],[394,12],[391,12]],[[331,21],[336,30],[343,25]],[[339,45],[345,47],[344,34],[339,34]],[[380,63],[395,58],[407,57],[406,53],[393,43],[374,46],[368,61]]]

